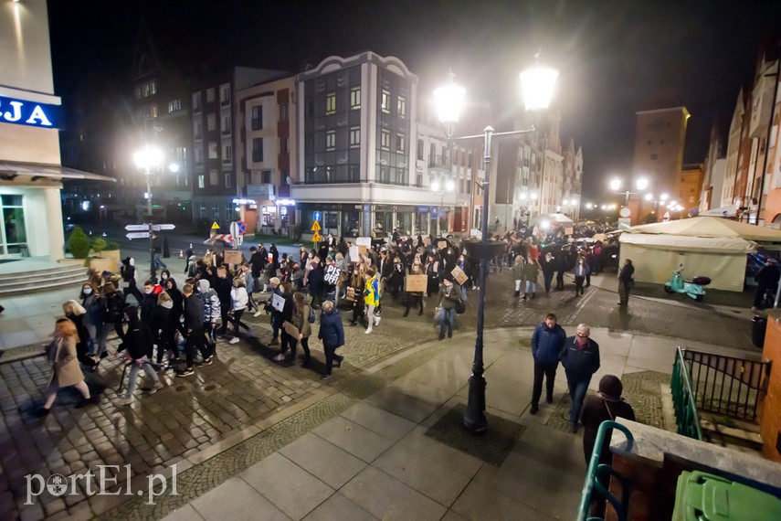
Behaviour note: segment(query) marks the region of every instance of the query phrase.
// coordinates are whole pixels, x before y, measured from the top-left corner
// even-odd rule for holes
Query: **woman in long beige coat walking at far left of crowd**
[[[54,400],[57,399],[57,391],[61,388],[73,386],[79,389],[81,400],[76,404],[77,409],[94,402],[76,358],[78,341],[79,333],[76,331],[76,325],[67,318],[59,318],[54,326],[52,341],[46,348],[46,356],[51,365],[51,377],[48,380],[46,402],[37,409],[37,416],[46,416],[49,413]]]

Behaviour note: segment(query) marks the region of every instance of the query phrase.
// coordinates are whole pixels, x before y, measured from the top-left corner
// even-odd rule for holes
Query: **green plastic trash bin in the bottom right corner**
[[[781,519],[781,499],[744,484],[699,471],[683,472],[675,490],[673,521]]]

